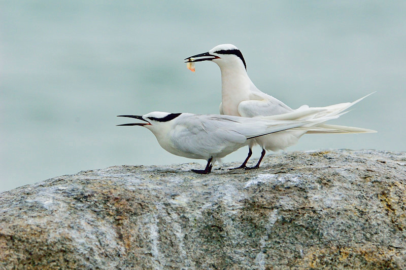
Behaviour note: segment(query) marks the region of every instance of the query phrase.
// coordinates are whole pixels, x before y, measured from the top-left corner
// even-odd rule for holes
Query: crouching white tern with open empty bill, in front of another
[[[189,159],[206,160],[204,170],[192,171],[207,174],[216,161],[221,161],[229,153],[248,145],[253,139],[288,129],[294,129],[295,132],[303,132],[301,129],[304,129],[306,132],[317,124],[340,116],[337,114],[314,119],[314,114],[320,111],[322,109],[309,110],[306,115],[303,114],[301,120],[154,111],[145,115],[118,115],[144,122],[118,126],[142,126],[149,129],[166,151]]]

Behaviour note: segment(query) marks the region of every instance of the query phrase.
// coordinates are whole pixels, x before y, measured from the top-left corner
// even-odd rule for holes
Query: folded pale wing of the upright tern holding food
[[[292,111],[293,109],[282,101],[262,92],[251,93],[250,100],[242,101],[238,106],[238,112],[243,117],[268,116]]]

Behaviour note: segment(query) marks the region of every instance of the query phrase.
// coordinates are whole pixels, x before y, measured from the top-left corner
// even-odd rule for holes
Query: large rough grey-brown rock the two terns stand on
[[[1,193],[0,269],[406,268],[405,152],[200,167],[114,166]]]

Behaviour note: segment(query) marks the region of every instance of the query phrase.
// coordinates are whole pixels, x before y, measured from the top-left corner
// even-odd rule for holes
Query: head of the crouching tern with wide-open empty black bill
[[[172,126],[173,123],[172,120],[174,120],[181,114],[182,113],[153,111],[144,115],[117,115],[118,117],[135,118],[146,122],[146,123],[122,124],[117,126],[143,126],[154,132],[159,129],[164,129],[164,127]]]

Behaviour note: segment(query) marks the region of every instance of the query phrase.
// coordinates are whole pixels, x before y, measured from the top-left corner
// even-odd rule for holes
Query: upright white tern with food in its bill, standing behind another
[[[280,120],[300,120],[308,111],[322,109],[314,115],[315,118],[333,116],[340,114],[355,103],[361,101],[368,95],[354,101],[335,104],[327,107],[312,108],[303,105],[298,109],[292,109],[282,101],[261,92],[250,80],[247,74],[247,64],[241,51],[231,44],[222,44],[210,51],[186,58],[186,63],[200,61],[211,61],[220,67],[221,71],[221,103],[220,114],[235,115],[240,117],[255,117],[258,115],[279,115]],[[194,70],[193,70],[194,71]],[[369,94],[370,95],[370,94]],[[248,156],[244,163],[233,169],[257,169],[265,156],[265,149],[278,151],[295,144],[305,133],[372,133],[375,130],[320,125],[319,130],[313,128],[309,131],[288,130],[276,134],[270,134],[251,140],[249,143]],[[261,157],[254,167],[247,167],[246,164],[252,155],[252,147],[259,144],[262,147]]]

